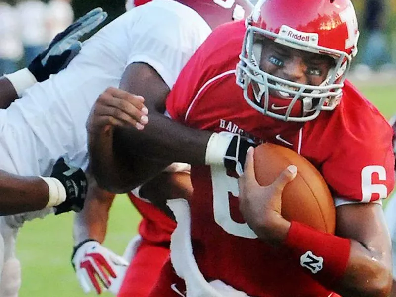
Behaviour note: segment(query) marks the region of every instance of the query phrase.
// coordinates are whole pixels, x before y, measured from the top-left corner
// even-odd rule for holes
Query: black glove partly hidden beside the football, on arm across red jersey
[[[256,146],[252,140],[236,134],[224,156],[224,166],[240,176],[244,172],[247,149]]]

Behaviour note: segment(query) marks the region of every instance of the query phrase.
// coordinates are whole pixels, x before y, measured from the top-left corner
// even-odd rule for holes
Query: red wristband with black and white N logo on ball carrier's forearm
[[[347,269],[350,240],[323,233],[298,222],[292,222],[284,245],[312,278],[325,287],[340,280]]]

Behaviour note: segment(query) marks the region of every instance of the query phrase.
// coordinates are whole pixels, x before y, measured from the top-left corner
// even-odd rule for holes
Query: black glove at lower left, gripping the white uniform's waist
[[[58,179],[66,189],[66,200],[55,206],[55,215],[83,209],[87,194],[87,178],[81,168],[70,167],[63,158],[56,161],[51,177]]]

